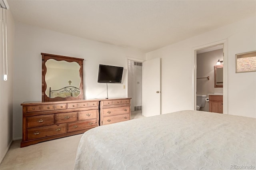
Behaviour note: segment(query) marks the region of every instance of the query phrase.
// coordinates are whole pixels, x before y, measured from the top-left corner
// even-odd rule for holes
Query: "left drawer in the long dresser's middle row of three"
[[[26,123],[27,128],[54,125],[54,114],[26,117]]]

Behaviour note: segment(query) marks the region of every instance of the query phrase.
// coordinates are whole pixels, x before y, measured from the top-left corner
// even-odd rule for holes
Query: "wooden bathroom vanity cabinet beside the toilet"
[[[223,113],[223,96],[209,95],[209,112]]]

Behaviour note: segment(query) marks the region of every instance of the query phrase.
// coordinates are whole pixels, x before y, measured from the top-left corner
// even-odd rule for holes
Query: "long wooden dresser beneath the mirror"
[[[99,101],[22,103],[23,123],[20,147],[80,134],[97,127]]]

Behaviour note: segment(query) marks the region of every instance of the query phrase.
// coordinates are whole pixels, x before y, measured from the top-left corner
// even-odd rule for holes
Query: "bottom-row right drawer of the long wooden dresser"
[[[87,121],[78,121],[74,123],[68,123],[68,132],[94,128],[94,127],[97,127],[97,124],[98,124],[97,119],[90,119]]]

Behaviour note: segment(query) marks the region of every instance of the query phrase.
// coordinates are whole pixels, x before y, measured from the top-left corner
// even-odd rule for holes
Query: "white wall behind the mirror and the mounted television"
[[[25,101],[41,101],[42,56],[50,53],[84,58],[86,99],[106,97],[106,83],[97,83],[99,64],[124,67],[122,84],[109,83],[109,97],[126,97],[127,57],[145,59],[145,53],[15,23],[14,139],[22,137],[22,107]]]

